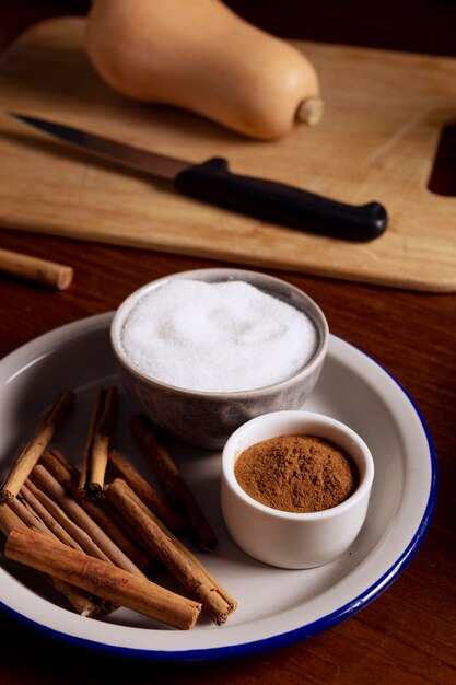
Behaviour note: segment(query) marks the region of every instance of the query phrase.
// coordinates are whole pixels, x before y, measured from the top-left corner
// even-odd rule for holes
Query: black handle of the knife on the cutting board
[[[388,222],[378,202],[346,205],[282,183],[233,174],[223,158],[180,172],[174,185],[184,195],[243,214],[347,241],[378,237]]]

